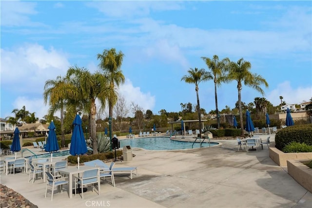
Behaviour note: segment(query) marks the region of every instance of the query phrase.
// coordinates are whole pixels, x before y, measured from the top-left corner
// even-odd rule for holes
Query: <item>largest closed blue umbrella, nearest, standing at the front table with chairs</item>
[[[75,120],[73,121],[74,130],[72,134],[69,153],[74,156],[78,155],[77,158],[78,169],[79,169],[79,155],[85,154],[88,151],[81,124],[82,124],[81,118],[77,114]]]

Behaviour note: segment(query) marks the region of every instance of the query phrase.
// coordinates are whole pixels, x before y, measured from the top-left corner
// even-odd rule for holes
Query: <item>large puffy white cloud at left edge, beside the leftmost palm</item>
[[[53,47],[46,50],[38,44],[1,49],[1,87],[42,93],[46,80],[65,75],[70,66],[66,56]]]

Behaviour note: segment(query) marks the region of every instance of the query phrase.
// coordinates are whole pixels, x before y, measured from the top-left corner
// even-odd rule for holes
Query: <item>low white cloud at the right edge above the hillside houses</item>
[[[293,88],[289,81],[285,81],[278,84],[276,89],[269,92],[266,99],[273,105],[278,105],[281,102],[279,96],[282,96],[283,101],[287,104],[300,104],[302,101],[309,101],[311,99],[312,86]]]

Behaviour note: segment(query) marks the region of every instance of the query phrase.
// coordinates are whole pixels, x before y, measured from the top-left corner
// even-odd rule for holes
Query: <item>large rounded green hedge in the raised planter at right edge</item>
[[[312,145],[312,125],[293,125],[279,130],[275,134],[275,147],[279,150],[292,143]]]

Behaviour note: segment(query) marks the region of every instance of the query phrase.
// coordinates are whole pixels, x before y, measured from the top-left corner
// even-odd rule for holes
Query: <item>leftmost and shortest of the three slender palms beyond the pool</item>
[[[190,68],[188,71],[189,75],[184,75],[181,78],[181,81],[185,81],[186,83],[194,83],[195,84],[195,91],[196,91],[196,97],[197,97],[197,112],[198,112],[198,121],[199,121],[199,129],[201,129],[201,116],[200,116],[200,105],[199,105],[199,95],[198,95],[198,84],[200,82],[205,82],[208,80],[212,80],[213,76],[210,72],[205,71],[205,69],[198,68]],[[201,131],[200,132],[200,138],[201,138]]]

